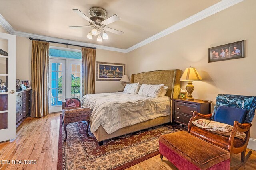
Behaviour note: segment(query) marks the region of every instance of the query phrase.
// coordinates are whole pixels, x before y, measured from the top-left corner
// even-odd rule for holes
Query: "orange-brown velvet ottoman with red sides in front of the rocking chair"
[[[229,170],[230,154],[185,131],[161,135],[161,160],[166,157],[179,170]]]

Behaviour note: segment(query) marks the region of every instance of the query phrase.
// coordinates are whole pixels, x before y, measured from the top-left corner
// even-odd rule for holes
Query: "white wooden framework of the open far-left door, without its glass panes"
[[[0,95],[7,94],[7,110],[0,111],[0,113],[7,112],[7,128],[0,130],[0,141],[12,140],[16,137],[16,35],[7,33],[0,33],[0,39],[7,39],[7,74],[0,74],[0,76],[7,76],[8,87],[7,91],[0,93]],[[14,93],[9,93],[14,90]]]

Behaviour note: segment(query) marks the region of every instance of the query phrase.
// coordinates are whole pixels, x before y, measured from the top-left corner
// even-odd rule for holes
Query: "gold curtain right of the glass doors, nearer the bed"
[[[96,50],[82,47],[82,96],[95,93]]]

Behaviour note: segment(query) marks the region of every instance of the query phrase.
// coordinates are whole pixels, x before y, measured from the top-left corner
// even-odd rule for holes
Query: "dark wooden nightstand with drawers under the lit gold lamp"
[[[193,112],[197,111],[201,114],[211,113],[212,101],[203,101],[200,99],[186,100],[174,98],[172,99],[172,125],[173,128],[179,126],[188,128],[188,122],[193,116]]]

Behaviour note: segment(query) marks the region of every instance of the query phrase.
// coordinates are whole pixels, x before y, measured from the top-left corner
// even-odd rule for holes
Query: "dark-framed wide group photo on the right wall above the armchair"
[[[244,40],[208,49],[208,63],[244,57]]]

